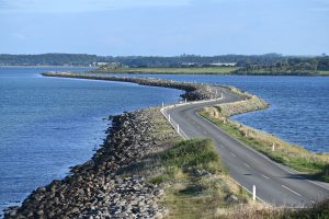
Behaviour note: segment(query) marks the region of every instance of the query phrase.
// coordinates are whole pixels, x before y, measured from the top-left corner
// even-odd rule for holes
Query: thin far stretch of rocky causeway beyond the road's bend
[[[179,89],[185,91],[185,93],[182,94],[182,97],[186,99],[188,101],[198,101],[198,100],[209,100],[209,99],[220,97],[219,93],[216,94],[214,92],[209,92],[209,88],[211,88],[209,84],[181,82],[181,81],[156,79],[156,78],[113,77],[113,76],[102,76],[97,73],[45,72],[42,74],[46,77],[121,81],[121,82],[138,83],[140,85]]]

